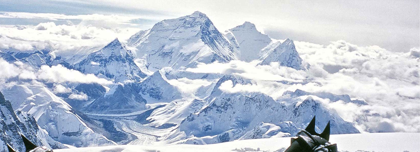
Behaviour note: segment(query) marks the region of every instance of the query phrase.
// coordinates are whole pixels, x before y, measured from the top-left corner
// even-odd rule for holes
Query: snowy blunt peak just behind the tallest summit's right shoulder
[[[260,50],[271,43],[270,37],[259,32],[255,24],[250,22],[226,30],[225,33],[231,44],[239,49],[238,58],[242,61],[259,59]]]

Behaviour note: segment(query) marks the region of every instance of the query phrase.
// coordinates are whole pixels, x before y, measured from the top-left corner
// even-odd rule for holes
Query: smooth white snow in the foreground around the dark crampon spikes
[[[330,142],[341,152],[419,152],[419,133],[335,134]],[[170,146],[118,145],[56,149],[54,152],[284,152],[290,137],[249,139],[219,144]]]

